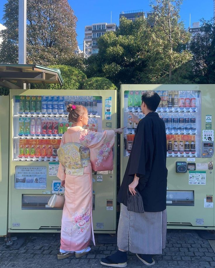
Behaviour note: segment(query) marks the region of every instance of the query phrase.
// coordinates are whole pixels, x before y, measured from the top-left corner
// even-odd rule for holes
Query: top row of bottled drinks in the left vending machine
[[[69,104],[82,105],[88,113],[97,113],[97,100],[93,96],[20,96],[19,112],[65,113]]]

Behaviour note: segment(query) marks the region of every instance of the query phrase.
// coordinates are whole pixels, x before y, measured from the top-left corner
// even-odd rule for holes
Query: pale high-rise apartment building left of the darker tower
[[[84,54],[86,57],[98,53],[97,39],[106,31],[116,31],[116,23],[95,23],[85,26],[84,30]]]

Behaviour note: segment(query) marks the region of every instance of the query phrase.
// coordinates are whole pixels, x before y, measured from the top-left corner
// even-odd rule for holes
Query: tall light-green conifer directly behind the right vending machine
[[[147,33],[143,36],[146,50],[146,68],[138,77],[141,83],[189,83],[184,68],[191,59],[186,49],[190,34],[183,22],[179,22],[179,11],[183,0],[157,0],[151,3],[152,12]],[[190,69],[189,69],[190,71]],[[182,74],[183,73],[183,74]],[[183,76],[185,75],[185,76]]]

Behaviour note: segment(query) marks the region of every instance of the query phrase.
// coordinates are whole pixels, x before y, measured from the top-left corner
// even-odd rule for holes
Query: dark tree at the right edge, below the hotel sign
[[[193,54],[192,76],[200,84],[215,84],[215,22],[202,20],[202,32],[190,42]]]

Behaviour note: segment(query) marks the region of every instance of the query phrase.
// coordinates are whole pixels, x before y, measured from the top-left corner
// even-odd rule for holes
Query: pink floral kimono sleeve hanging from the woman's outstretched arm
[[[114,130],[107,130],[103,133],[87,131],[84,135],[81,135],[80,142],[90,149],[90,162],[93,170],[113,169],[112,148],[115,143]]]

